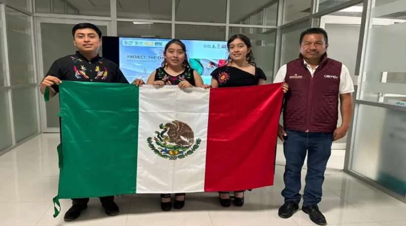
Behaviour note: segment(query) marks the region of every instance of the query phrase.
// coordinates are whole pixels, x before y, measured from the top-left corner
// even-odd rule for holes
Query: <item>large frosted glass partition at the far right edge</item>
[[[406,196],[406,1],[364,5],[359,87],[346,167]]]

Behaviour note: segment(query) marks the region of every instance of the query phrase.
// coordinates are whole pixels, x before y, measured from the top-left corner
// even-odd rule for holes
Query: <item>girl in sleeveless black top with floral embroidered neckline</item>
[[[173,39],[165,45],[165,59],[161,67],[148,77],[147,85],[177,85],[181,89],[203,86],[200,75],[194,71],[187,60],[186,46],[178,39]],[[142,79],[132,82],[137,86],[144,84]],[[185,205],[185,193],[176,193],[174,208],[181,209]],[[169,211],[172,208],[171,194],[161,194],[161,209]]]

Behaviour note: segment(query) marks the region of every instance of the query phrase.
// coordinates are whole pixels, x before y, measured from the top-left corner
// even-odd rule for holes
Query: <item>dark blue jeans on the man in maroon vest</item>
[[[327,160],[331,154],[333,133],[306,133],[288,129],[285,131],[287,134],[283,144],[286,158],[283,174],[285,189],[282,190],[282,196],[285,198],[285,202],[293,201],[297,204],[300,202],[300,172],[308,152],[303,207],[315,206],[321,201],[321,186],[324,181]]]

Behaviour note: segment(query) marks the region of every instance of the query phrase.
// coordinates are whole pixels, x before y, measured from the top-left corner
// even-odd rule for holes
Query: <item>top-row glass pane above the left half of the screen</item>
[[[117,0],[117,17],[134,18],[134,19],[172,20],[172,1]]]

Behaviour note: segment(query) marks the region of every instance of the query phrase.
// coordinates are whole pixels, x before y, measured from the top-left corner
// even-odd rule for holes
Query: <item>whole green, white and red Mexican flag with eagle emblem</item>
[[[181,90],[63,81],[59,89],[56,204],[273,184],[281,83]]]

